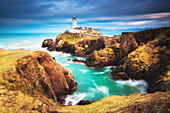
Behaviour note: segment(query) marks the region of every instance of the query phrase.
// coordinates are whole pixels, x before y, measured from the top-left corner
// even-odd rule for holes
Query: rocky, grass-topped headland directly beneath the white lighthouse
[[[63,51],[74,56],[88,56],[94,50],[104,49],[105,44],[103,38],[65,32],[58,35],[55,42],[50,39],[44,40],[42,47],[48,47],[50,51]]]

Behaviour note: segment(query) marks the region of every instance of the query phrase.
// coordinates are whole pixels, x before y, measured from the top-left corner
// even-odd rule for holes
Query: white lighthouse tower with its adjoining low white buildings
[[[72,29],[70,29],[71,33],[87,33],[87,34],[100,34],[100,30],[88,28],[88,27],[78,27],[77,26],[77,19],[73,16],[73,24]]]

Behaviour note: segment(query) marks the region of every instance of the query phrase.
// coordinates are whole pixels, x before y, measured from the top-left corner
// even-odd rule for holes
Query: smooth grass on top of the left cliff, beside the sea
[[[15,64],[17,60],[25,55],[32,54],[34,51],[28,50],[0,50],[0,84],[9,88],[15,87],[12,79],[19,79],[19,75],[16,73]],[[12,74],[11,74],[12,73]]]

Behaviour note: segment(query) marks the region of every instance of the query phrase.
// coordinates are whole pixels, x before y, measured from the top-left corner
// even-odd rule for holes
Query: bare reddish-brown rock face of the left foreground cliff
[[[29,92],[53,97],[76,91],[77,83],[72,72],[58,64],[48,53],[36,52],[20,58],[16,64],[17,72]]]

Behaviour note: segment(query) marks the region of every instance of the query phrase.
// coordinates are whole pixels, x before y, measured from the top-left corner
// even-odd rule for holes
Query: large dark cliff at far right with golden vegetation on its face
[[[158,35],[157,32],[161,34]],[[140,46],[119,61],[116,70],[112,71],[113,78],[144,79],[149,83],[149,93],[169,90],[170,29],[146,30],[135,36]],[[144,39],[143,42],[140,36]]]

